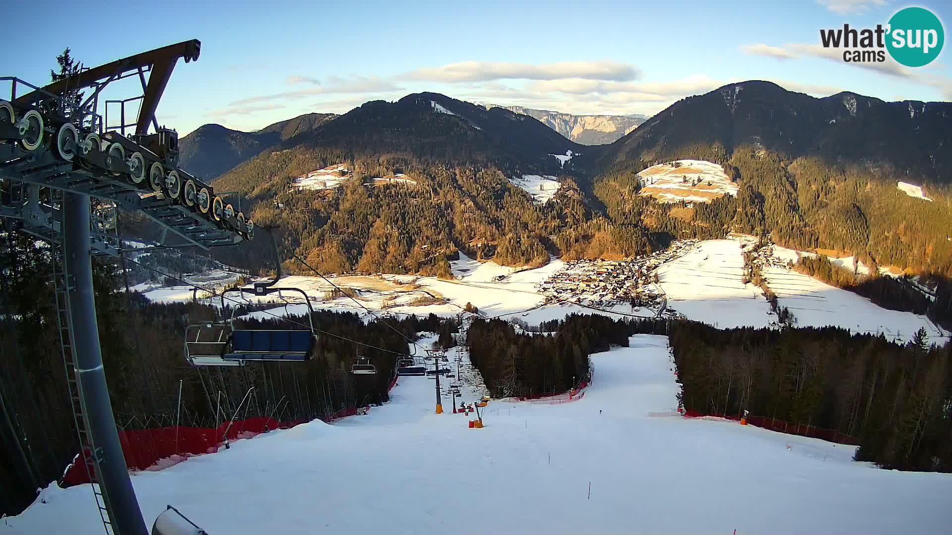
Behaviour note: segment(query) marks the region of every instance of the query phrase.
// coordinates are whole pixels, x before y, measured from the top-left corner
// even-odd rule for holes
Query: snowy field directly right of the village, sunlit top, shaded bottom
[[[688,319],[721,327],[767,327],[777,317],[761,288],[744,284],[741,241],[700,242],[683,257],[658,269],[667,306]]]

